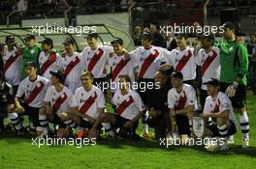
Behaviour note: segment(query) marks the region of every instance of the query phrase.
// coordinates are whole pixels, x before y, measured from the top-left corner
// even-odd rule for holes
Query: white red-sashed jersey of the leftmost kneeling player
[[[20,82],[16,97],[22,98],[24,96],[25,103],[30,107],[43,107],[48,86],[49,80],[41,75],[38,75],[33,82],[26,77]]]

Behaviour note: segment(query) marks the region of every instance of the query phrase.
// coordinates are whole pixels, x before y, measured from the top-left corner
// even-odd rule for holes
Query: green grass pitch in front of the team
[[[202,147],[164,149],[153,140],[102,139],[95,146],[32,145],[31,138],[0,135],[0,168],[255,168],[256,96],[248,95],[250,148],[241,148],[240,130],[228,152],[208,153]],[[139,131],[140,132],[140,131]]]

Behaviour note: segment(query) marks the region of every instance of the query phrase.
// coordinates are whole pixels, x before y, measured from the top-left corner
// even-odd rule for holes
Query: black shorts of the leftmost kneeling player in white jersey
[[[22,104],[25,109],[24,114],[27,115],[29,119],[32,121],[34,127],[41,127],[39,122],[39,109],[35,107],[30,107],[27,104]]]

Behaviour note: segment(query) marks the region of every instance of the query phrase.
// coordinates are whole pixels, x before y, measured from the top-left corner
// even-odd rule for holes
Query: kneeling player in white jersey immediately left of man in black
[[[122,138],[136,138],[136,128],[139,119],[144,114],[144,103],[140,95],[132,91],[129,87],[131,79],[128,75],[119,75],[119,89],[115,91],[112,104],[116,106],[115,114],[102,113],[94,128],[100,123],[105,124],[105,129],[114,137],[115,131],[117,136]],[[92,130],[94,131],[94,130]]]

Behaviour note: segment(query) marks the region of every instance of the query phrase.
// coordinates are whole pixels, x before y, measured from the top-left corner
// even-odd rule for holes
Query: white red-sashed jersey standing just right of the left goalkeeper
[[[39,65],[40,65],[40,72],[42,76],[50,79],[51,74],[49,73],[50,70],[57,71],[61,69],[61,56],[56,52],[51,52],[46,55],[44,51],[42,51],[39,55]]]

